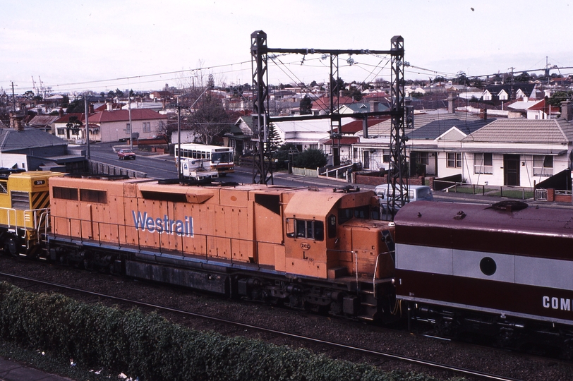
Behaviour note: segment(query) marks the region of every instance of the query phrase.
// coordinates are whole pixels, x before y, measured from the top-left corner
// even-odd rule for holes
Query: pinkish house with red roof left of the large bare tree
[[[130,138],[128,110],[99,111],[89,116],[90,129],[99,133],[99,141],[102,143],[128,140]],[[167,116],[150,109],[131,110],[131,135],[134,139],[147,139],[157,135],[163,126],[167,124]],[[97,135],[95,133],[95,135]],[[90,137],[90,140],[92,138]]]

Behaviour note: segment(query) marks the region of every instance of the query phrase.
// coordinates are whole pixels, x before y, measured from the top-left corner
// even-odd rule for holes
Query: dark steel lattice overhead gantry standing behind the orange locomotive
[[[273,183],[271,152],[269,142],[269,125],[273,121],[302,121],[308,119],[330,119],[330,136],[340,138],[342,118],[356,118],[356,114],[339,114],[340,92],[337,87],[338,56],[340,54],[387,54],[391,63],[391,107],[388,111],[370,111],[361,113],[360,117],[389,115],[392,118],[390,131],[390,168],[388,183],[397,191],[392,198],[390,210],[395,210],[396,203],[408,202],[408,185],[406,165],[406,140],[404,121],[404,39],[394,36],[390,50],[365,49],[274,49],[267,47],[267,34],[257,30],[251,34],[251,67],[253,73],[253,141],[258,142],[258,153],[254,156],[253,183]],[[327,115],[300,115],[277,117],[269,114],[268,54],[328,54],[330,55],[330,110]],[[337,131],[337,134],[334,133]]]

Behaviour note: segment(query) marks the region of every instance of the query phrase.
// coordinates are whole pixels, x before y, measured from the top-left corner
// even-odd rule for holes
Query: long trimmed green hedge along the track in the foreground
[[[435,380],[174,325],[156,313],[85,304],[0,284],[0,338],[83,368],[140,380]]]

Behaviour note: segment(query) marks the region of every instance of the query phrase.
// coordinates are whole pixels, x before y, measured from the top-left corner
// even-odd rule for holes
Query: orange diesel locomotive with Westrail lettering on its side
[[[373,191],[50,179],[52,260],[292,308],[380,320],[393,226]]]

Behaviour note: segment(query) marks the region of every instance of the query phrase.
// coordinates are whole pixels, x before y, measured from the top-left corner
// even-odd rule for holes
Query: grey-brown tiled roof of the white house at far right
[[[466,136],[463,142],[566,144],[569,141],[558,119],[497,119]],[[565,127],[571,122],[565,122]]]

